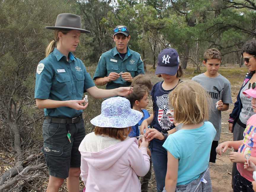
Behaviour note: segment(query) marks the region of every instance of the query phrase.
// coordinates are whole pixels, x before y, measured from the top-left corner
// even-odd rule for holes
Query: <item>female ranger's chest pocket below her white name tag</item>
[[[71,91],[71,86],[71,78],[68,74],[56,75],[56,84],[53,87],[58,93],[68,94]]]

